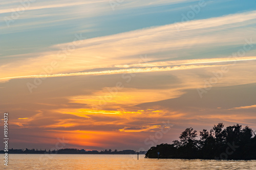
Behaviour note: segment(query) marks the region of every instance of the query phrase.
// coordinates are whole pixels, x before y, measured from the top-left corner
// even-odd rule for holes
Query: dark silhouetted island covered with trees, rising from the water
[[[151,147],[146,158],[178,159],[256,159],[256,135],[248,126],[233,125],[223,129],[223,123],[214,125],[207,131],[187,128],[180,135],[180,140],[172,144],[162,143]]]

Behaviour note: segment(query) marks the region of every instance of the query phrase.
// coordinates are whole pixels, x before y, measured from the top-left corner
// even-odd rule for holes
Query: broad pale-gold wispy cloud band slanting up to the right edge
[[[54,52],[51,51],[34,54],[35,57],[29,59],[8,59],[8,64],[0,67],[0,72],[5,72],[5,74],[1,75],[1,78],[16,78],[24,76],[24,78],[26,78],[32,75],[38,75],[44,70],[43,68],[48,66],[53,60],[56,60],[59,63],[59,66],[53,69],[52,77],[174,69],[139,68],[131,70],[109,69],[104,72],[83,71],[115,66],[130,67],[133,66],[136,61],[140,60],[139,56],[142,54],[147,54],[147,56],[149,56],[148,63],[143,63],[145,66],[159,67],[164,64],[172,65],[199,62],[224,62],[230,60],[227,59],[228,56],[225,56],[225,54],[222,54],[222,58],[224,59],[203,59],[201,61],[185,60],[185,63],[184,61],[175,60],[180,57],[189,57],[190,55],[188,54],[191,51],[197,51],[193,56],[194,59],[197,59],[197,55],[201,55],[200,53],[202,51],[207,51],[207,49],[209,50],[211,48],[218,48],[221,46],[243,46],[245,43],[245,37],[251,38],[252,35],[254,35],[253,33],[255,30],[250,26],[252,23],[256,23],[256,12],[254,11],[185,22],[183,23],[184,28],[182,28],[179,34],[177,33],[176,26],[172,24],[110,36],[91,38],[83,40],[81,44],[77,45],[76,49],[66,56],[65,60],[62,60],[63,58],[61,58],[63,57],[63,54],[61,54],[62,56],[56,55],[58,53],[56,50],[61,52],[61,49],[67,48],[67,46],[72,45],[72,43],[58,44],[51,47],[51,49],[54,49]],[[243,31],[244,27],[248,27],[246,32]],[[217,30],[222,31],[216,32]],[[170,51],[172,51],[172,56],[169,54],[164,55],[164,53],[169,53]],[[156,55],[158,56],[158,60],[167,60],[169,63],[154,62],[154,60],[156,60]],[[220,54],[218,54],[218,56],[220,56]],[[208,58],[208,56],[205,56],[205,58]],[[244,58],[244,60],[253,59],[253,57]],[[184,68],[184,66],[182,67]],[[83,73],[66,74],[67,72],[71,73],[78,71]]]

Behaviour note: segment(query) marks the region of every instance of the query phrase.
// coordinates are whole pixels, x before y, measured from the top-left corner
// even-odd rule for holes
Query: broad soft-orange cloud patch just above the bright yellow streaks
[[[119,91],[111,91],[111,88],[103,88],[90,95],[78,95],[69,97],[70,102],[87,104],[93,109],[103,109],[105,106],[134,106],[144,102],[156,102],[165,99],[177,98],[184,94],[179,89],[137,89],[123,88]]]

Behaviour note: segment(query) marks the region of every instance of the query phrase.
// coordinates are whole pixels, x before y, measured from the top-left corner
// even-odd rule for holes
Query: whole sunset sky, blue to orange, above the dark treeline
[[[255,1],[3,0],[0,17],[9,148],[145,151],[189,127],[256,130]]]

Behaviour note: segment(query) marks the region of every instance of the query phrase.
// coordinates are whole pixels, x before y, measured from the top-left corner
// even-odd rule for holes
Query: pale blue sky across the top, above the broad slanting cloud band
[[[70,1],[35,1],[30,7],[38,8],[28,8],[15,22],[11,22],[9,28],[2,19],[0,45],[4,54],[1,56],[42,51],[42,47],[72,41],[73,34],[78,32],[86,34],[88,38],[94,38],[180,22],[181,14],[186,15],[191,10],[189,6],[194,7],[200,1],[155,1],[152,5],[149,4],[154,1],[123,1],[116,2],[119,6],[114,4],[114,11],[109,1],[89,1],[95,2],[92,4],[76,2],[80,5],[74,5]],[[62,3],[67,6],[54,6]],[[205,1],[205,4],[206,6],[200,8],[200,12],[191,20],[251,11],[255,9],[256,3]],[[18,1],[2,1],[1,9],[5,11],[0,17],[10,17],[11,12],[8,10],[15,10],[18,6]]]

